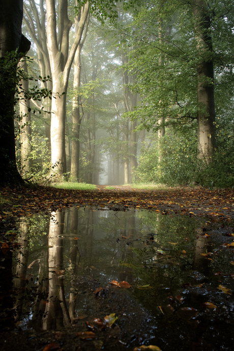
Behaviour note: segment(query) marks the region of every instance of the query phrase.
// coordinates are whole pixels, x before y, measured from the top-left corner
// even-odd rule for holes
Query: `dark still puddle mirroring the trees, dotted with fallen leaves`
[[[115,313],[109,338],[121,347],[232,349],[234,258],[222,245],[233,238],[216,223],[72,208],[19,226],[15,251],[1,252],[2,327],[59,330]]]

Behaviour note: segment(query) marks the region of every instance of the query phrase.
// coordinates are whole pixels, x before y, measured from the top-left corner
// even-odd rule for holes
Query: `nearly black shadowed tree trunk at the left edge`
[[[22,183],[16,167],[14,96],[16,70],[31,42],[21,32],[23,0],[3,2],[0,13],[0,182]]]

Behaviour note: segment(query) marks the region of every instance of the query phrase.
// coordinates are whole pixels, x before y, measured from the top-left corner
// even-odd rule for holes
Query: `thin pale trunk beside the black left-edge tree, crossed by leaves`
[[[18,66],[27,73],[27,62],[23,58],[20,60]],[[21,80],[21,89],[24,91],[28,90],[28,80]],[[31,151],[31,113],[28,112],[30,108],[30,100],[24,99],[23,93],[20,94],[21,99],[19,102],[19,111],[22,117],[19,125],[21,127],[20,142],[21,142],[21,167],[23,167],[24,172],[28,172],[32,167],[32,159],[28,157]]]

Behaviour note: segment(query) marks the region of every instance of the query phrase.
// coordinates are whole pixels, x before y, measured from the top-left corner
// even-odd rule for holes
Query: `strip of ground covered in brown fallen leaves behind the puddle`
[[[1,188],[1,220],[31,216],[72,206],[125,211],[128,208],[148,209],[158,213],[206,216],[229,219],[234,215],[233,189],[209,190],[201,187],[141,190],[126,186],[97,186],[97,190],[66,190],[38,186],[34,188]],[[2,221],[1,221],[2,222]]]

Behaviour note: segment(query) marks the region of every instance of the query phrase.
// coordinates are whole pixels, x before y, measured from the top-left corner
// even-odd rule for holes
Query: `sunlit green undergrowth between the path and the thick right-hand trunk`
[[[196,148],[194,129],[186,128],[183,133],[167,129],[164,137],[157,138],[149,150],[143,148],[134,181],[170,186],[194,181],[199,164]]]

